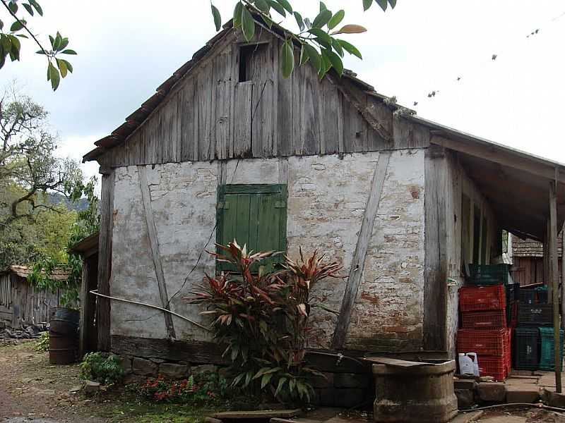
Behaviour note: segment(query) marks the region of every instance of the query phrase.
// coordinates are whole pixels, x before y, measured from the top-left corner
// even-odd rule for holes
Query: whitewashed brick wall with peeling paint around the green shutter
[[[326,253],[345,266],[347,275],[378,152],[342,156],[248,159],[227,162],[227,183],[288,184],[288,251]],[[206,253],[183,286],[184,278],[211,236],[215,241],[218,186],[216,162],[184,162],[147,166],[167,290],[174,312],[205,323],[201,311],[182,297],[213,272]],[[424,264],[424,150],[393,153],[381,206],[369,244],[362,286],[347,335],[348,348],[413,350],[422,341]],[[315,286],[314,301],[339,310],[346,280]],[[136,166],[116,169],[112,245],[113,296],[159,305]],[[309,347],[327,348],[336,318],[316,311]],[[203,340],[201,329],[174,317],[177,337]],[[112,302],[112,335],[165,338],[162,313],[138,305]]]

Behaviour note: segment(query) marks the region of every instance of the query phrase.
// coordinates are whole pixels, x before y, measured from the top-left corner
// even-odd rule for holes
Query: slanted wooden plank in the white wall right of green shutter
[[[369,248],[369,241],[373,235],[373,226],[376,214],[379,211],[379,203],[381,202],[381,194],[388,171],[388,162],[390,160],[391,152],[381,152],[379,154],[379,161],[376,163],[376,169],[371,183],[371,192],[369,192],[367,207],[365,208],[361,230],[359,231],[359,238],[357,238],[357,246],[355,247],[355,253],[351,262],[347,286],[343,294],[338,323],[333,333],[332,348],[343,348],[343,344],[345,343],[345,336],[347,335],[353,304],[357,298],[357,291],[361,283],[365,258],[367,257],[367,249]]]

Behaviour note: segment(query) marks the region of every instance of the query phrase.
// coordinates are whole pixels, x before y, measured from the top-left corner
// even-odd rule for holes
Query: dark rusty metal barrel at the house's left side
[[[49,313],[49,362],[71,364],[78,355],[78,311],[53,307]]]

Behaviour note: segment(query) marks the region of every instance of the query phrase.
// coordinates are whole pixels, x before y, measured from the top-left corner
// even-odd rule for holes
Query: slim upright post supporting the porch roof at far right
[[[559,324],[559,264],[557,259],[557,190],[554,182],[549,185],[549,275],[552,283],[553,330],[555,354],[555,390],[561,393],[561,324]]]

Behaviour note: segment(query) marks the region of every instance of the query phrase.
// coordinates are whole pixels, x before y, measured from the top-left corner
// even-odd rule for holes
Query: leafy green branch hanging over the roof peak
[[[336,38],[340,34],[359,34],[367,30],[361,25],[341,25],[345,19],[345,11],[340,9],[333,13],[323,1],[320,1],[320,11],[314,18],[303,18],[303,14],[292,7],[290,0],[238,0],[234,7],[233,26],[239,28],[247,42],[251,42],[256,32],[256,17],[263,20],[269,28],[274,25],[272,12],[286,18],[292,16],[298,26],[296,33],[285,31],[285,42],[280,51],[281,71],[285,78],[292,75],[295,63],[294,47],[301,48],[299,66],[310,62],[319,78],[323,78],[332,68],[338,75],[343,75],[343,57],[345,53],[362,59],[362,54],[350,42]],[[388,6],[394,8],[396,0],[362,0],[364,11],[376,3],[383,11]],[[212,16],[216,30],[222,27],[220,11],[211,4]],[[341,26],[340,26],[341,25]]]

